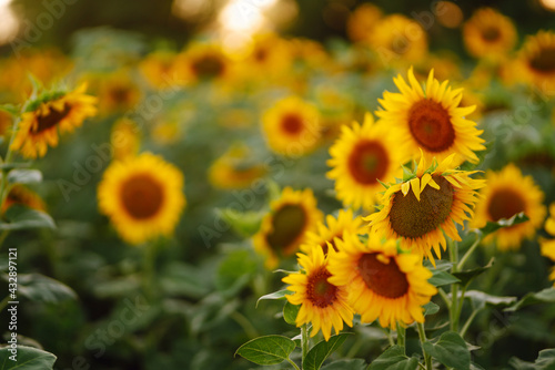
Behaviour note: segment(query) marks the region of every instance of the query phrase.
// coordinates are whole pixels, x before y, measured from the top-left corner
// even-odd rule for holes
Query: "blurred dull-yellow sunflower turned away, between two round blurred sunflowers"
[[[245,145],[235,145],[210,166],[209,181],[215,188],[239,189],[249,187],[265,172],[262,164],[253,162]]]

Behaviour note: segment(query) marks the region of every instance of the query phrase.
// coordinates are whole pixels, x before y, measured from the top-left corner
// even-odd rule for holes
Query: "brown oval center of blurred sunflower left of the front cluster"
[[[272,233],[266,237],[268,244],[275,251],[289,247],[301,235],[306,222],[306,214],[299,205],[286,204],[272,218]]]

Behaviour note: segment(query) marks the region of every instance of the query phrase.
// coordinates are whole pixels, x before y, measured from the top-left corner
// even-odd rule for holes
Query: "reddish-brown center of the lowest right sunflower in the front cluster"
[[[359,273],[366,287],[386,298],[404,296],[408,291],[408,281],[395,259],[390,258],[389,264],[384,264],[376,256],[377,253],[365,254],[359,259]]]

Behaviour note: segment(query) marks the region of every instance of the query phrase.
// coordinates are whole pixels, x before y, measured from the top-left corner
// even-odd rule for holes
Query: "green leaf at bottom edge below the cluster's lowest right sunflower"
[[[424,350],[446,367],[456,370],[470,370],[471,352],[466,342],[454,331],[446,331],[436,343],[423,343]]]

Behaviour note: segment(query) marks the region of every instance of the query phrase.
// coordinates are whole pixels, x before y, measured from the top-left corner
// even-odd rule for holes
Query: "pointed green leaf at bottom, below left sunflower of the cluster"
[[[259,337],[239,347],[235,354],[258,364],[276,364],[289,359],[295,342],[283,336]]]

